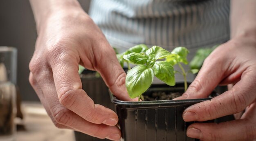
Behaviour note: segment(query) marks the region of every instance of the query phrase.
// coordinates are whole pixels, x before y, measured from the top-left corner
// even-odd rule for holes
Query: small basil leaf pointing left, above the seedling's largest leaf
[[[139,54],[139,53],[130,53],[128,55],[124,55],[124,59],[130,61],[134,64],[145,64],[148,60],[147,55]]]

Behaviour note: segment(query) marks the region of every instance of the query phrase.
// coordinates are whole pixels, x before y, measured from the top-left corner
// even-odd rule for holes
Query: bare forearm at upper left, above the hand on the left
[[[29,0],[35,21],[36,27],[39,31],[42,22],[54,13],[63,14],[68,13],[70,10],[83,11],[77,0]]]

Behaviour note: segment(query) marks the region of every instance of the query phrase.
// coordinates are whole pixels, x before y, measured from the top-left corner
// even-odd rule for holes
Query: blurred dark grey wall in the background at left
[[[87,11],[88,0],[79,0]],[[0,0],[0,46],[18,48],[17,80],[22,100],[38,100],[30,86],[29,61],[36,42],[36,25],[29,0]]]

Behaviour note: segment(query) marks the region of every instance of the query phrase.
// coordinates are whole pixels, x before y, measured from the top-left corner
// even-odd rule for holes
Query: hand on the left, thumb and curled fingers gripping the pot
[[[81,9],[48,14],[38,25],[29,82],[58,128],[119,140],[116,113],[94,104],[82,90],[79,64],[98,71],[117,98],[131,101],[125,87],[126,73],[92,19]]]

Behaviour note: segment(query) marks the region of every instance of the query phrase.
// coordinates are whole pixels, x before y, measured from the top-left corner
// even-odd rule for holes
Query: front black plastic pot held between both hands
[[[173,87],[152,85],[143,95],[154,91],[183,92],[184,85]],[[216,96],[212,93],[211,96]],[[194,122],[184,122],[183,111],[196,103],[211,98],[161,101],[121,101],[111,95],[115,104],[123,141],[197,141],[186,136],[186,128]],[[214,121],[207,121],[214,122]]]

